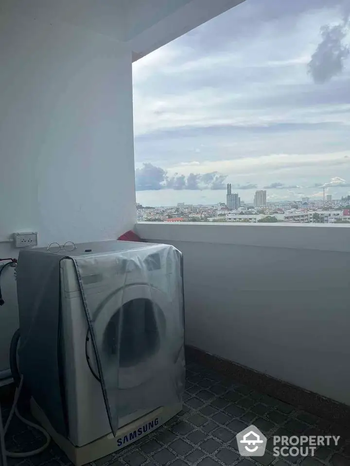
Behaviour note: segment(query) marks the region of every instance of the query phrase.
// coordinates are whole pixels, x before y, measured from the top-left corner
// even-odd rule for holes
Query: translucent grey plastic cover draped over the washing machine
[[[59,347],[59,264],[64,258],[75,265],[111,431],[117,432],[121,416],[181,401],[183,277],[182,254],[175,247],[117,241],[95,243],[91,249],[85,243],[71,252],[21,250],[17,268],[20,371],[56,431],[68,435]],[[106,289],[100,301],[87,292],[96,277]],[[142,290],[135,299],[132,287]],[[152,386],[152,393],[144,393],[142,383],[137,391],[132,387],[133,373],[137,386],[137,374],[142,371],[145,379],[157,380],[159,374],[159,383],[145,385]]]

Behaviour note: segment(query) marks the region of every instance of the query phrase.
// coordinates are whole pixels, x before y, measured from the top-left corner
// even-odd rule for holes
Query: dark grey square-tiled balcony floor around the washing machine
[[[4,411],[8,412],[8,407]],[[266,453],[254,459],[239,455],[235,434],[250,424],[268,438]],[[340,435],[337,447],[320,447],[315,457],[276,458],[272,455],[272,435]],[[7,437],[12,450],[34,449],[42,439],[17,418]],[[9,458],[9,466],[66,466],[70,461],[54,444],[27,460]],[[297,410],[277,399],[226,379],[190,363],[184,409],[157,431],[109,455],[93,466],[350,466],[350,438],[344,428]]]

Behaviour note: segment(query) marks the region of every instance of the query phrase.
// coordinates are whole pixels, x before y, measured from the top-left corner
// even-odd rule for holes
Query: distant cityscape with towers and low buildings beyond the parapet
[[[332,199],[325,194],[315,200],[268,202],[266,191],[255,192],[254,201],[245,203],[227,184],[226,202],[192,205],[185,202],[171,207],[137,204],[137,220],[151,222],[230,222],[230,223],[327,223],[350,224],[350,196]]]

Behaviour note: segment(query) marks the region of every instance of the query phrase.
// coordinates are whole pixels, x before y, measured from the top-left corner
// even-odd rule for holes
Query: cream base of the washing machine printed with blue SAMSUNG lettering
[[[139,440],[148,433],[156,430],[159,426],[171,419],[182,409],[182,403],[163,406],[136,421],[123,426],[117,435],[112,433],[98,438],[88,445],[75,447],[67,438],[57,433],[40,406],[31,399],[31,411],[33,416],[40,422],[44,429],[51,435],[54,442],[66,453],[70,461],[76,466],[82,466],[91,461],[96,461],[103,456],[114,453],[127,445]],[[143,427],[146,427],[144,432]]]

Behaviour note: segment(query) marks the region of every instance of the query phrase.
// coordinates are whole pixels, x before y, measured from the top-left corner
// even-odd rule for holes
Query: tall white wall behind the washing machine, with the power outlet
[[[117,238],[136,219],[131,52],[64,23],[0,15],[0,241]],[[0,256],[14,256],[0,244]],[[3,277],[0,372],[17,327]]]

